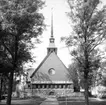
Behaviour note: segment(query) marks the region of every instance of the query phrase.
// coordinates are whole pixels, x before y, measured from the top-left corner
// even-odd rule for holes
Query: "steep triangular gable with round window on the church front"
[[[33,81],[68,81],[67,68],[55,52],[50,53],[41,62],[31,78]],[[38,78],[38,79],[37,79]]]

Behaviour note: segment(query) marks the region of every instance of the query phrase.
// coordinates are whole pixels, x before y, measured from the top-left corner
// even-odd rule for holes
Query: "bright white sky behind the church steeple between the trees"
[[[53,30],[55,45],[58,48],[57,55],[66,67],[68,67],[72,62],[72,57],[69,55],[68,48],[65,47],[65,44],[60,40],[61,37],[69,36],[72,30],[69,24],[70,20],[66,15],[66,12],[69,11],[67,0],[44,1],[46,2],[46,6],[43,8],[42,13],[45,17],[45,24],[47,27],[40,38],[42,43],[36,45],[37,48],[32,50],[33,55],[36,56],[36,63],[33,64],[33,68],[36,68],[47,55],[47,47],[49,46],[49,38],[51,35],[51,8],[53,8]],[[106,0],[102,1],[106,4]]]

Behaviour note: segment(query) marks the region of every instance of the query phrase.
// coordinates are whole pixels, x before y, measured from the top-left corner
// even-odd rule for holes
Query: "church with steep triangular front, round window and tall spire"
[[[73,82],[68,79],[67,67],[57,55],[53,36],[53,16],[51,19],[51,37],[47,55],[30,76],[32,95],[65,95],[73,91]],[[63,55],[64,56],[64,55]]]

